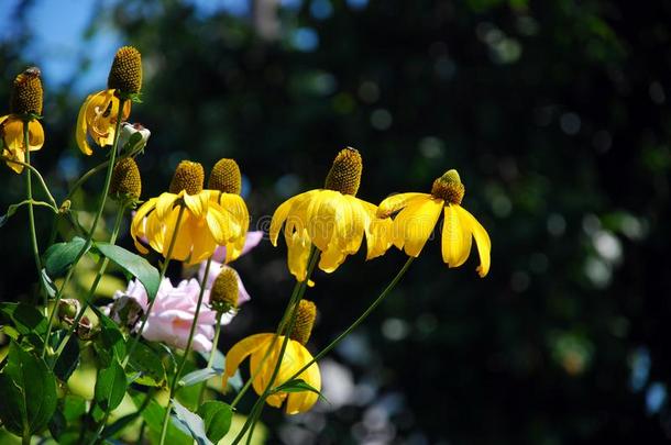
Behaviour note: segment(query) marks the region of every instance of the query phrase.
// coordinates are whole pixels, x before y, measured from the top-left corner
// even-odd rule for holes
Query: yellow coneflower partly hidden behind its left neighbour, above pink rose
[[[210,199],[228,210],[243,231],[241,236],[226,244],[224,263],[230,263],[242,254],[250,221],[246,204],[240,196],[242,175],[238,163],[234,159],[223,158],[215,164],[208,180],[208,189],[210,190]]]

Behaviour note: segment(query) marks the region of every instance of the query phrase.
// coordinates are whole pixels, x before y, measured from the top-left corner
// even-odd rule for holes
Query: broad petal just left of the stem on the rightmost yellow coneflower
[[[440,216],[443,201],[430,196],[414,199],[394,220],[394,244],[417,257]]]

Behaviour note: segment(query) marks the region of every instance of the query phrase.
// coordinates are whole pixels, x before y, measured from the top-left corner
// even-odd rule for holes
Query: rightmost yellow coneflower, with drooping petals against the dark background
[[[377,213],[388,216],[400,210],[394,219],[391,241],[406,254],[417,257],[433,232],[442,210],[443,262],[449,267],[464,264],[471,253],[472,240],[475,238],[480,254],[480,266],[476,270],[484,277],[490,271],[492,242],[482,224],[461,207],[464,191],[457,170],[448,170],[433,181],[430,194],[394,194],[381,202]]]

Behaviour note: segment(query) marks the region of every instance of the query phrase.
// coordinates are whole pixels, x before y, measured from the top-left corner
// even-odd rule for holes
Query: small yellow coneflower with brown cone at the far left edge
[[[28,125],[28,149],[35,152],[44,145],[44,129],[35,118],[42,114],[43,94],[40,69],[32,67],[16,76],[12,85],[10,114],[0,118],[2,156],[25,162],[24,124]],[[22,165],[9,160],[7,165],[18,174],[23,171]]]

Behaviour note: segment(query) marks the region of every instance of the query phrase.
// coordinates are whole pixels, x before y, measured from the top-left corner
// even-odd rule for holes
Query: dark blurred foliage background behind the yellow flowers
[[[132,119],[153,134],[139,159],[144,198],[167,187],[183,158],[208,169],[234,157],[253,225],[264,227],[285,198],[320,187],[351,145],[364,157],[360,197],[372,202],[428,191],[458,168],[463,204],[494,246],[481,280],[475,258],[447,269],[430,242],[332,355],[340,365],[322,366],[342,401],[288,421],[266,410],[271,443],[671,435],[671,3],[243,3],[238,13],[187,0],[100,3],[89,33],[112,23],[143,54],[144,103]],[[0,46],[2,102],[26,38]],[[47,91],[47,144],[34,159],[57,198],[68,168],[102,157],[76,151],[82,99]],[[7,208],[23,181],[8,169],[2,177]],[[35,281],[22,215],[2,227],[3,300]],[[46,240],[50,221],[41,223]],[[279,319],[292,287],[285,253],[264,243],[237,265],[253,301],[223,335],[224,352]],[[403,262],[391,251],[364,265],[359,254],[332,276],[319,272],[308,292],[320,310],[310,349],[344,329]]]

